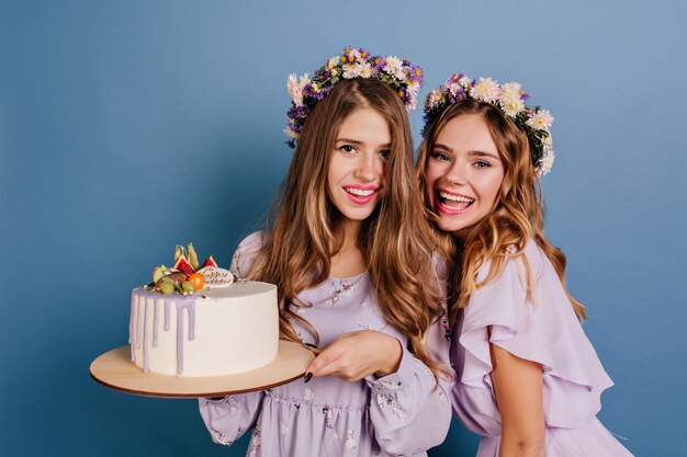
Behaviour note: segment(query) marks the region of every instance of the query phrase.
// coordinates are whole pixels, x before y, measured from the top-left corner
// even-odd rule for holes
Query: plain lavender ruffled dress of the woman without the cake
[[[477,457],[498,456],[500,445],[489,343],[542,365],[547,457],[631,456],[596,418],[601,392],[613,382],[582,330],[553,265],[534,241],[525,254],[532,300],[527,298],[522,261],[510,259],[494,281],[470,297],[453,331],[453,410],[469,430],[484,436]],[[480,270],[477,282],[489,267]],[[491,339],[487,325],[492,325]]]

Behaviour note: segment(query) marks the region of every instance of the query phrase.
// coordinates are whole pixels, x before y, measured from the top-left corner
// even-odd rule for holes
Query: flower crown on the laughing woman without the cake
[[[446,81],[446,84],[433,89],[427,95],[423,136],[427,133],[427,126],[448,106],[466,99],[480,100],[500,110],[525,132],[532,153],[532,164],[540,176],[544,175],[551,171],[554,159],[550,132],[553,116],[551,112],[539,106],[533,108],[526,106],[525,101],[528,98],[529,95],[520,90],[518,82],[499,85],[492,78],[480,78],[477,81],[464,73],[455,73]]]

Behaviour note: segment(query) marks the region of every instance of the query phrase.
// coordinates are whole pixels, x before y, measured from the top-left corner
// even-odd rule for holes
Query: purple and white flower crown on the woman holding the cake
[[[417,94],[423,87],[423,69],[394,56],[372,56],[362,48],[347,47],[342,56],[331,57],[327,64],[315,70],[313,79],[307,73],[297,78],[289,76],[286,87],[291,96],[289,124],[284,130],[291,137],[286,141],[295,148],[305,119],[317,102],[331,92],[345,79],[373,78],[386,82],[401,96],[406,108],[417,106]]]

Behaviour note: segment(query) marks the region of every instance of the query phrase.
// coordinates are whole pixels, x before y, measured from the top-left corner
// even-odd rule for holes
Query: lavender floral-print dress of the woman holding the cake
[[[232,269],[244,275],[262,247],[261,233],[246,238],[234,254]],[[319,332],[319,346],[359,330],[378,330],[406,343],[378,308],[367,273],[338,278],[305,290],[312,304],[299,312]],[[304,343],[313,334],[294,325]],[[449,365],[446,317],[432,325],[428,346],[435,359]],[[431,372],[404,349],[395,374],[357,382],[337,377],[295,380],[262,392],[199,399],[200,411],[215,443],[230,445],[255,427],[248,456],[426,456],[446,437],[451,421],[452,381],[435,389]]]

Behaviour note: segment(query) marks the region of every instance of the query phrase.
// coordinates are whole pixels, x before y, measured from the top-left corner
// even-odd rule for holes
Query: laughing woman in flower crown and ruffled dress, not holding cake
[[[596,418],[612,382],[543,233],[553,117],[526,100],[518,83],[453,75],[425,104],[419,182],[454,259],[453,409],[483,436],[478,457],[629,456]]]

